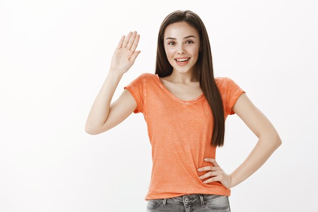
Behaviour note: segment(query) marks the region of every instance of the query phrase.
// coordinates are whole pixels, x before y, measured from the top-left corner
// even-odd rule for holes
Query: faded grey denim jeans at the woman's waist
[[[147,212],[231,212],[229,197],[216,194],[189,194],[165,199],[148,199]]]

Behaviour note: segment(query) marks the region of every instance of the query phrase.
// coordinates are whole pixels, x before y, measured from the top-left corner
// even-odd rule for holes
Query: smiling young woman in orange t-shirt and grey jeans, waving
[[[110,105],[122,75],[140,53],[139,38],[137,32],[130,32],[120,39],[85,131],[99,134],[132,112],[142,112],[153,163],[147,211],[231,211],[230,188],[265,163],[281,144],[278,133],[234,80],[214,78],[206,28],[188,10],[175,11],[163,21],[155,74],[142,73]],[[215,150],[224,144],[226,117],[235,113],[259,141],[247,159],[227,174],[216,162]]]

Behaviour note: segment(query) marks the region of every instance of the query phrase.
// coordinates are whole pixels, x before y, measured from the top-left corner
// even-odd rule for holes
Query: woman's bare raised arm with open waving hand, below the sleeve
[[[96,135],[118,125],[137,107],[137,103],[127,89],[110,105],[116,87],[123,76],[134,64],[140,51],[135,51],[139,42],[137,32],[122,36],[112,57],[108,75],[98,93],[85,124],[85,132]]]

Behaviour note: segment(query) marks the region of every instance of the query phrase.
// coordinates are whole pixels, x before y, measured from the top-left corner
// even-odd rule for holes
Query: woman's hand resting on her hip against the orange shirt
[[[208,173],[201,175],[199,178],[204,179],[209,176],[214,176],[214,177],[211,177],[205,180],[203,183],[207,184],[213,181],[220,181],[220,183],[226,188],[228,189],[232,188],[231,175],[225,173],[223,169],[221,169],[221,167],[216,163],[215,159],[207,158],[207,160],[205,161],[211,162],[213,166],[204,166],[199,168],[198,171],[209,171]]]

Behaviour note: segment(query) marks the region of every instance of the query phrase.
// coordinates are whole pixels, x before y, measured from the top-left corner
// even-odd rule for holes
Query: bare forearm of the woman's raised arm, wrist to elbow
[[[91,132],[92,129],[100,127],[106,122],[110,103],[121,77],[122,74],[117,74],[111,70],[108,72],[102,88],[89,111],[85,124],[86,132]]]

